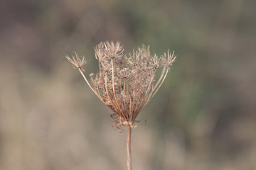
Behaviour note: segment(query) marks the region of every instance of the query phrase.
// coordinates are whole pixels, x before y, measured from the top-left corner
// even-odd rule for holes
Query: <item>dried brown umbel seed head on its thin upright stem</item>
[[[142,108],[163,84],[176,57],[174,52],[167,52],[161,57],[151,55],[149,47],[142,45],[137,51],[123,54],[119,42],[100,42],[95,47],[95,57],[99,62],[99,72],[90,74],[90,83],[85,77],[85,57],[78,55],[66,58],[77,68],[90,89],[114,113],[111,114],[114,128],[122,132],[128,127],[127,135],[127,169],[132,169],[131,130]],[[156,71],[161,67],[161,75],[156,79]]]

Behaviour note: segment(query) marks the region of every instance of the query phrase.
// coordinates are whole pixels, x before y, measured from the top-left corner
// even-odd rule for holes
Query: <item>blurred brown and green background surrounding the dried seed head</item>
[[[65,60],[95,45],[177,57],[132,132],[140,170],[256,169],[256,1],[1,0],[0,169],[126,169],[126,131]]]

